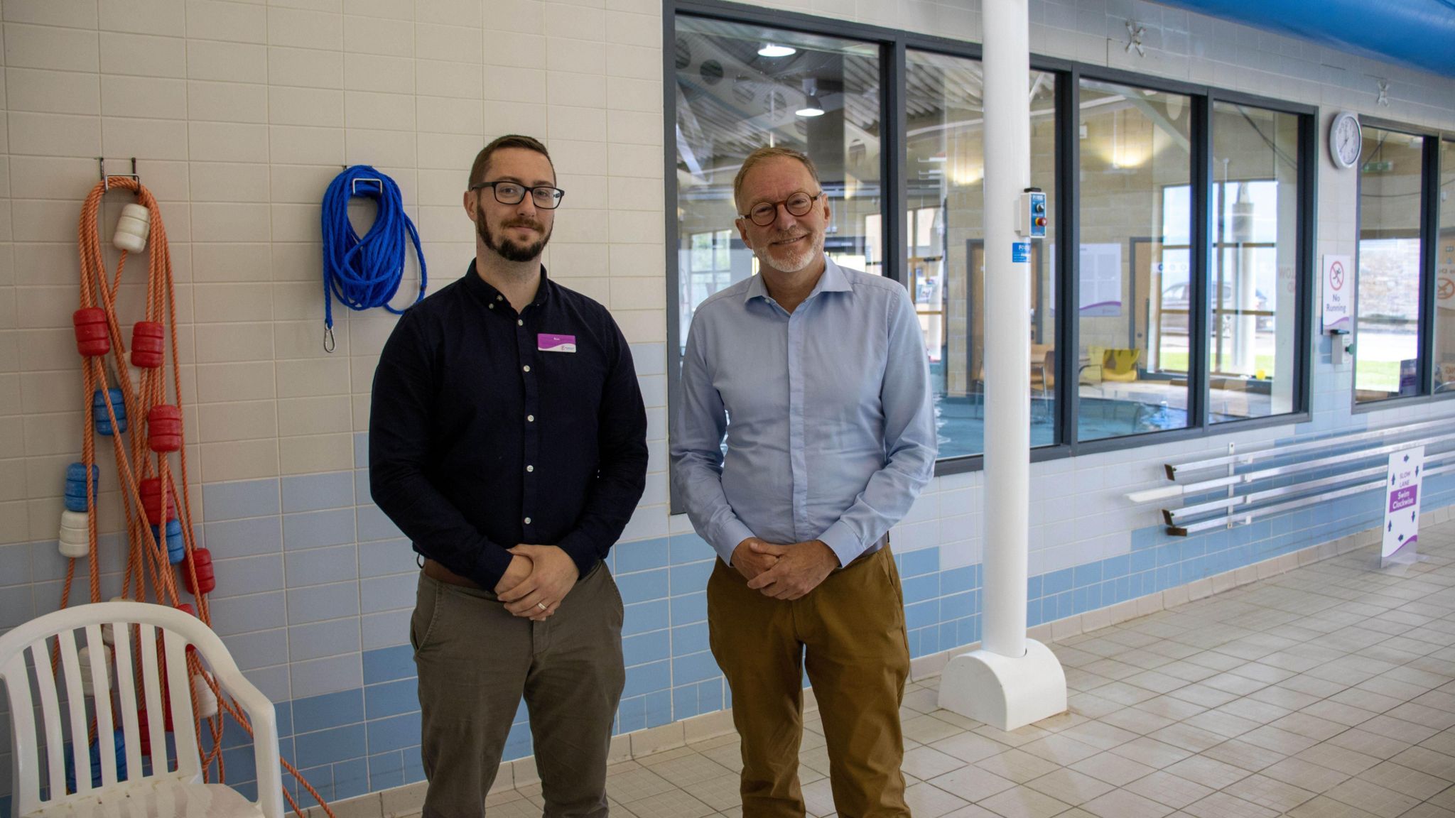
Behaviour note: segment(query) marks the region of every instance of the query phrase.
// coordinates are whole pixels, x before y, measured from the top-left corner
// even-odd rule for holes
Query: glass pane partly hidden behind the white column
[[[914,214],[909,271],[930,355],[940,457],[985,451],[985,178],[981,64],[959,57],[905,55],[906,182]],[[1030,176],[1056,208],[1055,76],[1030,77]],[[1056,441],[1056,223],[1032,245],[1030,445]]]

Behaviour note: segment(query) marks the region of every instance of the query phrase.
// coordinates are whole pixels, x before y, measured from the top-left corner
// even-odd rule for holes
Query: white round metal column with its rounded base
[[[1067,680],[1026,639],[1030,527],[1030,263],[1013,255],[1030,185],[1027,0],[984,0],[985,22],[985,536],[982,648],[954,656],[940,706],[1000,729],[1067,709]]]

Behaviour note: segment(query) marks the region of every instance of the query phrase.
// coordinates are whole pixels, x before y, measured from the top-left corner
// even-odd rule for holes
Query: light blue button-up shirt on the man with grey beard
[[[723,562],[757,536],[848,565],[934,474],[928,360],[895,281],[828,261],[792,314],[741,281],[697,307],[681,386],[672,485]]]

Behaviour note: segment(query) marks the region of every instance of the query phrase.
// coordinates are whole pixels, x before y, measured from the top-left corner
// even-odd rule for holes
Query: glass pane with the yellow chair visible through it
[[[1081,440],[1187,425],[1192,102],[1081,82]]]

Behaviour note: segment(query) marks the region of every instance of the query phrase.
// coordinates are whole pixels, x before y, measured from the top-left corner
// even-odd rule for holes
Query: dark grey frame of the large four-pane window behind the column
[[[832,17],[819,17],[797,12],[744,6],[725,0],[666,0],[662,13],[662,42],[672,44],[677,38],[677,16],[688,15],[725,22],[760,25],[787,29],[803,33],[825,36],[840,36],[870,42],[880,49],[880,122],[882,148],[880,173],[883,185],[883,272],[904,284],[905,281],[905,250],[906,236],[904,220],[899,214],[908,199],[906,178],[904,167],[905,146],[905,52],[908,49],[928,51],[949,57],[982,60],[984,48],[978,42],[968,42],[950,38],[905,32],[883,26],[856,23]],[[665,202],[663,226],[666,243],[666,357],[668,357],[668,434],[672,435],[675,426],[675,408],[681,400],[681,352],[678,338],[681,336],[679,316],[671,304],[675,303],[681,288],[681,274],[678,271],[678,246],[681,237],[677,230],[677,95],[672,77],[675,76],[675,49],[662,49],[662,131],[663,131],[663,186]],[[1189,303],[1189,426],[1181,429],[1167,429],[1142,432],[1133,435],[1110,437],[1091,441],[1077,440],[1077,415],[1080,410],[1080,389],[1077,389],[1077,355],[1056,355],[1056,432],[1055,442],[1030,450],[1033,463],[1045,460],[1059,460],[1080,454],[1097,454],[1103,451],[1120,451],[1144,445],[1160,445],[1184,440],[1213,438],[1227,434],[1237,434],[1267,426],[1286,426],[1311,419],[1310,410],[1310,377],[1312,371],[1312,354],[1308,344],[1298,344],[1295,360],[1293,410],[1280,415],[1245,418],[1238,421],[1224,421],[1211,424],[1206,418],[1208,390],[1211,377],[1206,373],[1208,339],[1203,330],[1211,320],[1211,304],[1206,295],[1206,271],[1211,258],[1212,210],[1208,201],[1208,191],[1212,180],[1212,134],[1211,112],[1215,102],[1247,105],[1292,114],[1299,118],[1298,138],[1298,218],[1295,250],[1296,287],[1295,301],[1298,317],[1295,327],[1299,338],[1308,338],[1312,329],[1314,304],[1312,295],[1317,291],[1314,277],[1314,220],[1318,201],[1318,134],[1320,109],[1314,105],[1295,103],[1273,98],[1263,98],[1232,90],[1225,90],[1208,84],[1171,80],[1120,68],[1101,65],[1087,65],[1083,63],[1043,57],[1032,54],[1030,68],[1056,74],[1056,218],[1058,245],[1064,247],[1080,246],[1080,90],[1081,80],[1094,79],[1120,83],[1126,86],[1183,93],[1190,98],[1193,124],[1193,234],[1192,243],[1197,247],[1192,253],[1192,269],[1189,282],[1196,282]],[[1436,215],[1438,218],[1438,215]],[[1427,243],[1429,245],[1429,243]],[[1433,249],[1430,246],[1430,249]],[[1433,255],[1430,256],[1433,261]],[[1058,320],[1055,326],[1056,346],[1061,349],[1080,349],[1078,323],[1074,320],[1075,310],[1067,310],[1065,304],[1080,303],[1078,287],[1078,253],[1062,252],[1056,258],[1056,269],[1052,275],[1056,281]],[[1430,307],[1433,310],[1433,306]],[[1433,311],[1432,311],[1433,314]],[[1427,333],[1429,335],[1429,333]],[[1429,364],[1426,362],[1426,368]],[[1451,393],[1455,396],[1455,393]],[[1424,397],[1423,400],[1427,400]],[[1410,399],[1400,400],[1406,405]],[[1391,402],[1382,402],[1391,403]],[[936,461],[936,476],[978,472],[984,469],[984,454],[970,454]],[[682,509],[677,498],[672,498],[672,512]]]

